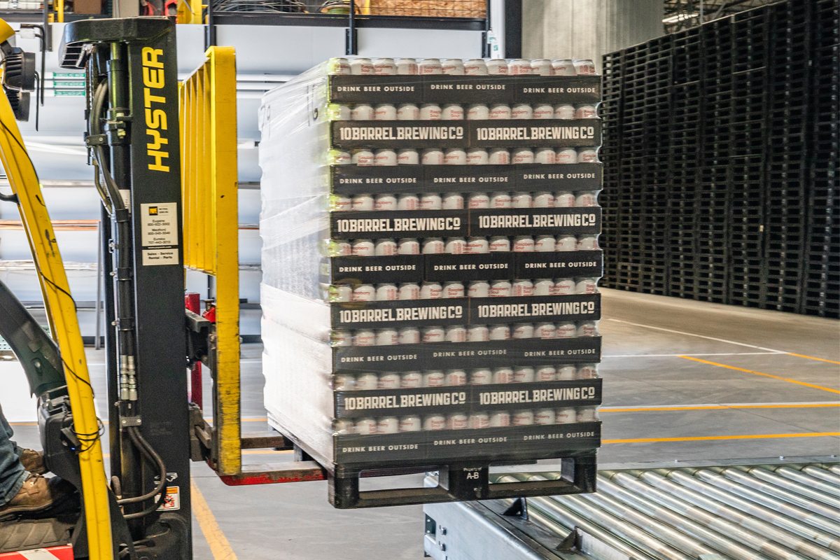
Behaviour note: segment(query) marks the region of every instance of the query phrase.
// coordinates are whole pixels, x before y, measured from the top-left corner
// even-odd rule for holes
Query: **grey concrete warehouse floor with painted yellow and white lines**
[[[602,464],[840,454],[837,321],[615,290],[603,300]],[[102,354],[90,358],[101,384]],[[259,358],[244,348],[247,432],[267,428]],[[34,427],[16,429],[37,443]],[[228,488],[203,464],[193,474],[212,511],[194,524],[197,559],[423,557],[420,506],[333,510],[323,482]]]

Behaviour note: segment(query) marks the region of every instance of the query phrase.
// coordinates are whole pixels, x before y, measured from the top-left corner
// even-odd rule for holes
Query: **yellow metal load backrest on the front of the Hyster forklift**
[[[218,474],[242,466],[239,427],[239,220],[236,61],[233,47],[210,47],[181,83],[184,265],[216,282],[213,462]]]

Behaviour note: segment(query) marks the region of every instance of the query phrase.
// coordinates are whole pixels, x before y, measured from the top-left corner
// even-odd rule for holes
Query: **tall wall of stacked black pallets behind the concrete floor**
[[[836,0],[604,57],[603,285],[840,316]]]

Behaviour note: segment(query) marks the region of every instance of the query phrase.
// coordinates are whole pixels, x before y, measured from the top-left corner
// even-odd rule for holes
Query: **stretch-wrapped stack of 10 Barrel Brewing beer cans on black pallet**
[[[332,59],[265,94],[271,427],[326,468],[600,443],[600,76]]]

